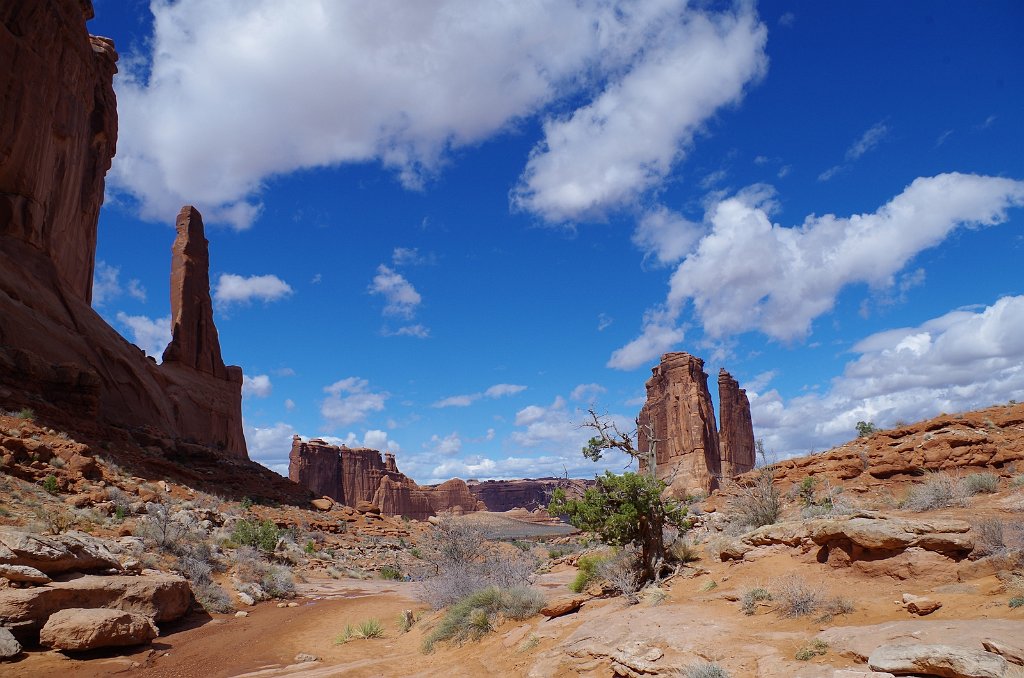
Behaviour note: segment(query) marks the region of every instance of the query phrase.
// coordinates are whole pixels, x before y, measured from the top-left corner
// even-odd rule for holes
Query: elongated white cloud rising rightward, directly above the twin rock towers
[[[640,337],[608,365],[635,368],[678,343],[687,305],[712,339],[750,330],[806,337],[844,287],[892,287],[918,253],[957,228],[1000,223],[1022,205],[1024,181],[950,173],[914,179],[871,213],[810,215],[786,227],[772,223],[764,190],[741,192],[711,206],[708,234],[676,268],[665,305],[645,314]]]

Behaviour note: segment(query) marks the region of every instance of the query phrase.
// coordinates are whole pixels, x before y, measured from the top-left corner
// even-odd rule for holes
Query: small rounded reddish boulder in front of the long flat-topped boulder
[[[50,616],[39,632],[45,647],[83,651],[147,643],[157,637],[148,617],[120,609],[71,607]]]

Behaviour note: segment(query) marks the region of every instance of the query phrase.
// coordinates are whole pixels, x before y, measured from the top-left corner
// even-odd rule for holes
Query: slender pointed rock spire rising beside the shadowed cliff
[[[191,205],[178,212],[171,248],[171,343],[164,363],[181,363],[224,379],[220,339],[210,299],[210,250],[203,216]]]

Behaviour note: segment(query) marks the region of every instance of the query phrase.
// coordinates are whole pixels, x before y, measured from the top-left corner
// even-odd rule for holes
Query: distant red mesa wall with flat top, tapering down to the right
[[[347,506],[372,504],[386,515],[419,520],[442,511],[462,513],[484,509],[466,483],[455,478],[439,485],[421,486],[401,473],[394,455],[376,450],[328,444],[319,438],[292,439],[288,477],[317,497]]]

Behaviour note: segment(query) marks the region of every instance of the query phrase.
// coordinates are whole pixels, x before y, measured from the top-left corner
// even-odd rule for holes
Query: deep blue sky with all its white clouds
[[[159,357],[197,205],[275,470],[590,475],[586,409],[632,422],[668,350],[779,456],[1024,400],[1018,2],[94,4],[94,306]]]

